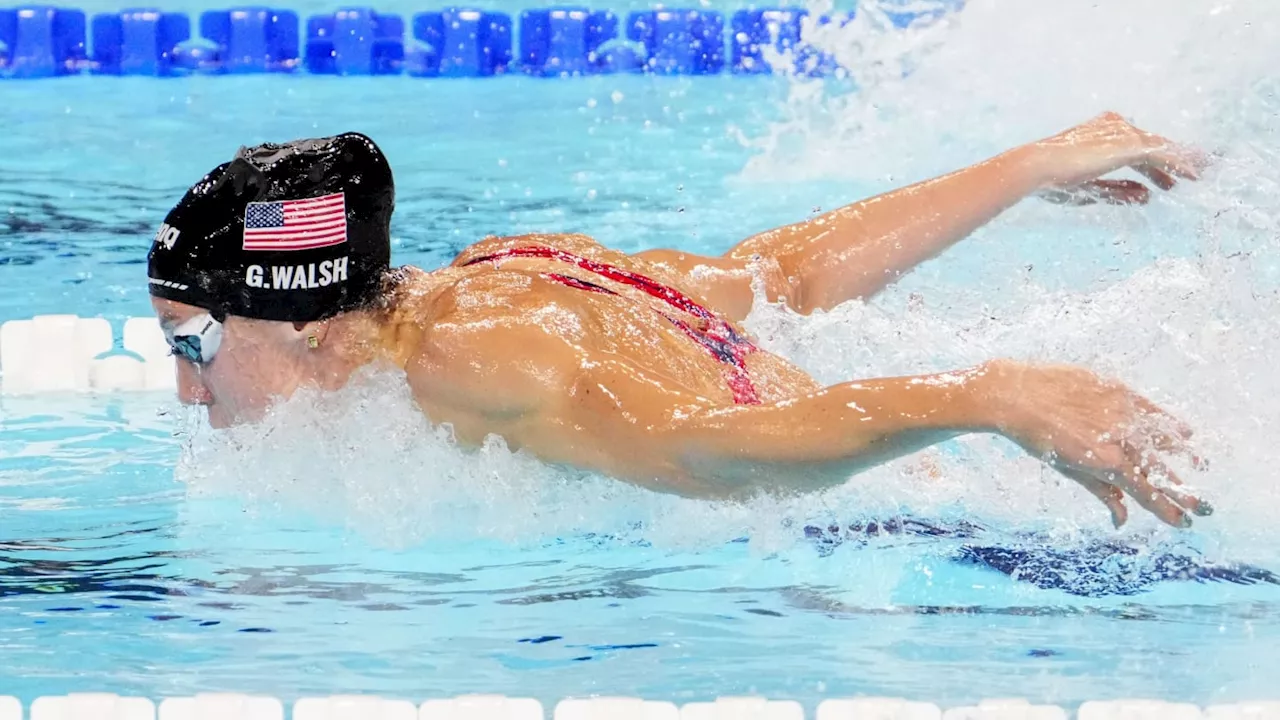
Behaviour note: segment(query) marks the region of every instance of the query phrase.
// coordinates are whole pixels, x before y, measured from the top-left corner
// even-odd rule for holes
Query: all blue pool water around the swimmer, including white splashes
[[[1111,106],[1222,155],[1148,208],[1025,202],[872,304],[748,323],[827,382],[992,355],[1117,374],[1201,430],[1213,465],[1194,482],[1219,511],[1189,532],[1137,512],[1114,532],[991,438],[727,505],[500,443],[462,452],[397,378],[229,433],[166,396],[4,397],[0,692],[1275,697],[1277,101],[1249,51],[1274,20],[1213,8],[1137,32],[1156,15],[1143,0],[1106,22],[1044,5],[1038,24],[974,3],[937,45],[861,38],[868,61],[914,69],[868,72],[858,94],[759,77],[0,85],[0,320],[146,314],[166,208],[265,140],[375,137],[398,177],[394,260],[426,268],[539,229],[719,252]],[[1105,61],[1073,45],[1084,29]]]

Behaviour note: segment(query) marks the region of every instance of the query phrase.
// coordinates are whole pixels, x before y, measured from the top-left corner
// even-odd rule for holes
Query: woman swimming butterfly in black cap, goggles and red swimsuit
[[[812,492],[966,433],[997,433],[1101,500],[1185,528],[1212,510],[1170,470],[1190,428],[1076,366],[992,359],[823,387],[737,323],[867,299],[1028,196],[1144,202],[1194,152],[1115,114],[969,168],[749,237],[716,258],[580,234],[490,237],[448,266],[390,266],[394,183],[367,137],[242,149],[168,214],[148,254],[178,395],[215,428],[298,387],[402,369],[463,446],[500,436],[658,492]]]

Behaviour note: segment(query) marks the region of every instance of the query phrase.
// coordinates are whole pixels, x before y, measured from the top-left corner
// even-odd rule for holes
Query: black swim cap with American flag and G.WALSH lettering
[[[358,133],[242,147],[169,211],[151,295],[228,315],[311,322],[376,299],[396,186]]]

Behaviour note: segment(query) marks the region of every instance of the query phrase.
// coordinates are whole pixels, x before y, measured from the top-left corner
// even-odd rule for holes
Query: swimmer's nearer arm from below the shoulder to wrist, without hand
[[[698,497],[813,491],[957,434],[997,432],[986,386],[975,369],[714,406],[626,364],[599,363],[566,393],[557,425],[584,436],[572,443],[576,461],[652,489]]]

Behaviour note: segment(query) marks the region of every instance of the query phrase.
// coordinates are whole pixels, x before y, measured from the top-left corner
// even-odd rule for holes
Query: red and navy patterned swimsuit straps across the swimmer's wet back
[[[739,405],[760,404],[760,397],[755,392],[755,384],[751,383],[751,377],[746,372],[746,356],[755,352],[755,346],[751,345],[751,341],[739,334],[732,325],[716,316],[714,313],[699,305],[687,295],[639,273],[618,268],[617,265],[588,260],[586,258],[580,258],[572,252],[554,250],[540,245],[500,250],[493,255],[485,255],[484,258],[468,260],[466,264],[474,265],[476,263],[486,263],[490,260],[497,261],[507,258],[545,258],[549,260],[559,260],[562,263],[577,265],[584,270],[593,272],[613,282],[640,288],[653,297],[667,302],[672,307],[678,307],[680,310],[704,320],[707,329],[699,329],[680,318],[662,313],[663,318],[671,320],[677,328],[684,331],[685,334],[705,347],[713,357],[724,364],[724,380],[728,383],[730,389],[733,391],[733,402]],[[585,290],[588,292],[618,295],[617,292],[593,282],[571,278],[558,273],[543,273],[543,277],[561,284]]]

